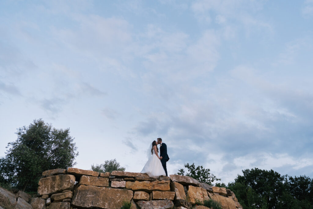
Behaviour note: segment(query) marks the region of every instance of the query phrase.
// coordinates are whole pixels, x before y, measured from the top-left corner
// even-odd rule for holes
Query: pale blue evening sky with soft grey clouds
[[[17,128],[69,128],[75,167],[203,165],[313,177],[313,1],[0,2],[0,156]]]

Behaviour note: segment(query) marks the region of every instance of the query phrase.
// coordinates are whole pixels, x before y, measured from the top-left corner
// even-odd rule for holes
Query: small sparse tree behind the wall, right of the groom
[[[209,185],[212,185],[213,181],[221,180],[217,178],[215,175],[210,173],[210,169],[203,168],[202,165],[195,166],[194,163],[189,165],[188,163],[184,165],[185,168],[188,169],[188,172],[186,173],[186,176],[190,176],[199,182],[207,183]],[[180,169],[177,172],[178,175],[185,175],[185,170]]]

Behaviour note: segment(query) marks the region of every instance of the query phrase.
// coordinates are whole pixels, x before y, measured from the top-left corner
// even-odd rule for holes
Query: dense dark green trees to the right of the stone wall
[[[290,177],[273,170],[246,169],[227,188],[244,208],[313,208],[313,180],[306,176]]]

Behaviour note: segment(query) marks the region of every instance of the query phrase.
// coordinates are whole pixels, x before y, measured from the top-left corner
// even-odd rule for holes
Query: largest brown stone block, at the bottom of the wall
[[[73,207],[121,208],[123,201],[130,202],[133,191],[108,187],[80,185],[73,197]],[[51,208],[50,208],[51,209]]]

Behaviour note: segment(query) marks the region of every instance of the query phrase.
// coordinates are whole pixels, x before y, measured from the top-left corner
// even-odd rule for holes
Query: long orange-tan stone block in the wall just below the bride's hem
[[[170,191],[170,181],[126,181],[126,189],[146,192],[153,190]]]

